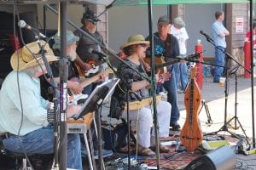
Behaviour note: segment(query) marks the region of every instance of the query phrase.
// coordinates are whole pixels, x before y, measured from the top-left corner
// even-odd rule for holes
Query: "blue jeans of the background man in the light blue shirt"
[[[218,48],[222,49],[223,51],[225,50],[225,48],[218,46]],[[215,48],[215,64],[216,65],[225,65],[225,54],[220,51],[218,48]],[[219,81],[219,77],[222,77],[223,75],[223,71],[224,68],[223,67],[219,67],[219,66],[215,66],[215,74],[214,74],[214,78],[213,81],[214,82],[218,82]]]

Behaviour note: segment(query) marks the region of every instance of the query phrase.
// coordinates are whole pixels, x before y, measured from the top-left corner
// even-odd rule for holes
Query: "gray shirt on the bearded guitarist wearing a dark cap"
[[[91,34],[89,31],[84,29],[84,26],[82,26],[81,29],[86,31],[92,37],[95,37],[99,42],[102,43],[103,46],[106,46],[102,35],[98,31],[96,31],[94,34]],[[78,48],[77,48],[77,54],[79,55],[79,57],[83,61],[86,61],[87,59],[96,59],[96,60],[98,60],[99,59],[98,55],[90,54],[88,52],[88,50],[90,48],[93,48],[94,50],[101,52],[102,51],[101,46],[99,44],[97,44],[95,41],[91,40],[90,37],[86,37],[79,30],[74,31],[73,33],[74,33],[74,35],[79,37],[79,43],[78,43]]]

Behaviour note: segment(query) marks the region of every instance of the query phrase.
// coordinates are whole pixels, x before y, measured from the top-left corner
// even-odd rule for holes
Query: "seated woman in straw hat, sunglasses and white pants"
[[[145,57],[146,48],[149,46],[149,42],[144,40],[142,35],[135,35],[128,38],[128,42],[121,46],[127,59],[125,61],[131,65],[134,69],[147,76],[141,59]],[[130,91],[137,94],[141,99],[148,98],[148,86],[150,83],[147,80],[140,77],[137,72],[132,71],[127,65],[121,64],[118,68],[119,77],[122,77],[125,82],[120,82],[115,89],[111,99],[110,116],[117,116],[126,118],[125,112],[123,113],[123,105],[125,104],[125,89],[129,88]],[[170,76],[170,75],[169,75]],[[169,77],[168,77],[169,78]],[[156,78],[156,82],[159,82],[159,78]],[[137,100],[134,94],[130,94],[130,100]],[[151,123],[153,122],[153,112],[150,107],[144,107],[137,111],[129,111],[130,119],[138,121],[137,133],[138,133],[138,155],[140,156],[154,156],[155,140],[154,130],[150,135]],[[171,105],[166,101],[160,101],[157,104],[157,116],[159,122],[159,135],[160,137],[169,136],[169,122],[171,116]],[[117,118],[119,118],[117,117]],[[151,146],[151,147],[150,147]],[[149,149],[149,147],[152,149]],[[160,152],[168,152],[168,148],[160,144]]]

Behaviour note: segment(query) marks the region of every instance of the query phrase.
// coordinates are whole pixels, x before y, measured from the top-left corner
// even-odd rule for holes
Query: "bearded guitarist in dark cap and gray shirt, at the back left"
[[[87,32],[88,34],[90,34],[90,36],[95,37],[96,40],[98,40],[98,42],[101,42],[101,45],[103,47],[105,47],[106,44],[103,40],[102,35],[98,31],[96,31],[96,23],[98,21],[100,21],[100,20],[98,19],[96,14],[92,10],[87,8],[86,12],[83,15],[83,18],[81,19],[81,23],[83,25],[81,27],[81,29],[83,31]],[[90,37],[86,37],[79,30],[74,31],[73,33],[74,33],[74,35],[79,37],[77,54],[79,55],[79,57],[81,59],[76,59],[76,63],[78,65],[80,65],[84,71],[90,70],[91,65],[86,64],[86,61],[88,61],[89,59],[93,59],[93,60],[95,60],[95,62],[100,60],[98,55],[91,54],[89,52],[90,48],[93,48],[94,50],[99,51],[99,52],[102,51],[102,48],[94,40],[91,40]],[[102,69],[104,69],[104,67],[102,67]],[[101,80],[103,81],[103,80],[105,80],[105,78],[107,78],[107,77],[103,76]],[[92,90],[96,87],[96,84],[97,83],[84,88],[84,94],[90,94],[92,92]]]

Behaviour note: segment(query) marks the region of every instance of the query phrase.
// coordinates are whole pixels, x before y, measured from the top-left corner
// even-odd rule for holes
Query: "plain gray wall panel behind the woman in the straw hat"
[[[168,6],[153,7],[154,31],[157,31],[157,20],[168,14]],[[108,9],[108,45],[119,51],[121,44],[134,34],[148,36],[148,8],[146,6],[112,7]]]

